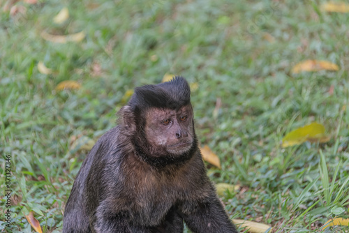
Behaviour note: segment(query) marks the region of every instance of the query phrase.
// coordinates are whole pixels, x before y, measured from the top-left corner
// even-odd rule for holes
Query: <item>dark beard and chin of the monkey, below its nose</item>
[[[163,168],[168,165],[183,165],[190,160],[198,150],[198,140],[195,133],[192,142],[179,143],[170,146],[151,145],[146,137],[140,133],[141,137],[134,138],[133,145],[135,153],[142,160],[156,168]]]

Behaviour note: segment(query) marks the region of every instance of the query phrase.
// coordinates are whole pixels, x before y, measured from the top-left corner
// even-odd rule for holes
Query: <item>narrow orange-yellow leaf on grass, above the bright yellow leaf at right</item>
[[[306,60],[293,66],[292,73],[300,73],[302,71],[319,71],[319,70],[339,70],[339,67],[329,61]]]

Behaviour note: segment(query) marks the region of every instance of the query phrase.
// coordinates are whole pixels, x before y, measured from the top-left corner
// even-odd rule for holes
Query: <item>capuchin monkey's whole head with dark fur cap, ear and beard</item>
[[[197,147],[191,91],[183,77],[145,85],[120,112],[136,151],[153,165],[178,163]]]

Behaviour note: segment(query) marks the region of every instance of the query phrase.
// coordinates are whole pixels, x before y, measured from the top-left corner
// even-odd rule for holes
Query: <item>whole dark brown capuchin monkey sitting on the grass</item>
[[[64,233],[236,233],[206,174],[183,77],[135,89],[82,163]]]

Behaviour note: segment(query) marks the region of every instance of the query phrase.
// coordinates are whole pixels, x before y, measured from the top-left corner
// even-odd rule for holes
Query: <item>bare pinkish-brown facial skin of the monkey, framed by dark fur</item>
[[[191,149],[194,138],[191,105],[179,110],[151,108],[147,111],[145,134],[149,143],[180,155]]]

